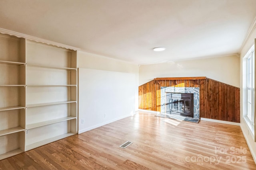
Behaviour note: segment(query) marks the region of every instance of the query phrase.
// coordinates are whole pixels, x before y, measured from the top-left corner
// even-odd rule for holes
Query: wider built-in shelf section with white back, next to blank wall
[[[77,133],[76,51],[27,41],[26,147]]]

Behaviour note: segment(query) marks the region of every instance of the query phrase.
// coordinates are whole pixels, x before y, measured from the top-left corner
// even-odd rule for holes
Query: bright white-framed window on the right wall
[[[244,119],[251,131],[254,133],[254,66],[255,51],[254,45],[244,56]]]

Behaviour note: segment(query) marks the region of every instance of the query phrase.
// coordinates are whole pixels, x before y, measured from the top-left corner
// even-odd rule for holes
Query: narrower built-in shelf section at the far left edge
[[[0,34],[0,159],[24,151],[26,40]]]

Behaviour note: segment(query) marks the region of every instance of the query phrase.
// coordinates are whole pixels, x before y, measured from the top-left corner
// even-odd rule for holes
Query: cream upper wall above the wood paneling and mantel
[[[208,59],[147,64],[139,68],[139,85],[160,77],[206,76],[240,87],[239,57],[227,56]]]

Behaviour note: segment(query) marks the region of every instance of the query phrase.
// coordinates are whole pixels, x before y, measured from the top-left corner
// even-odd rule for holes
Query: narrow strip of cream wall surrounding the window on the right
[[[243,48],[241,49],[240,53],[240,126],[243,131],[244,137],[247,141],[248,147],[250,148],[250,151],[252,153],[252,156],[254,158],[254,161],[256,162],[256,143],[254,142],[254,137],[252,133],[250,132],[250,128],[245,123],[245,120],[243,118],[243,57],[247,53],[247,51],[252,47],[254,44],[254,39],[256,38],[256,29],[254,26],[254,30],[251,32],[250,37],[248,37],[246,43],[244,44]]]

